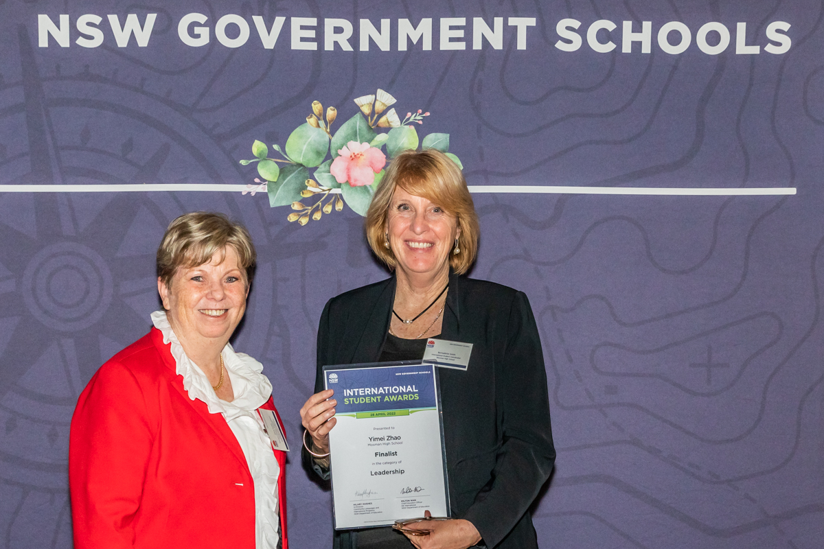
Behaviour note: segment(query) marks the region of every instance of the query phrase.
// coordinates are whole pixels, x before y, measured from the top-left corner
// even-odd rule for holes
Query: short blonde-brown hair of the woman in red
[[[157,248],[157,276],[171,288],[178,268],[203,265],[214,254],[221,254],[222,261],[227,246],[235,250],[249,287],[257,259],[252,237],[246,227],[229,221],[222,213],[191,212],[172,221]]]

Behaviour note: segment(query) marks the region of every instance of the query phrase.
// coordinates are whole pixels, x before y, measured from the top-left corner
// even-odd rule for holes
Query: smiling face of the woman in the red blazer
[[[163,308],[180,342],[225,345],[246,312],[246,272],[238,266],[235,249],[227,246],[225,251],[223,258],[218,251],[208,263],[178,268],[171,287],[157,280]]]

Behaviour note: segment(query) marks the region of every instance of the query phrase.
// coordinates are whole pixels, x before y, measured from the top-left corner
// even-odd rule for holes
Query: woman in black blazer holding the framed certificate
[[[335,549],[537,547],[528,508],[555,463],[541,340],[526,295],[462,276],[478,221],[461,170],[434,150],[397,156],[366,226],[395,276],[338,295],[321,315],[316,393],[301,409],[311,468],[329,477],[336,401],[321,366],[420,359],[431,337],[473,347],[466,371],[438,370],[455,519],[408,539],[391,528],[335,532]]]

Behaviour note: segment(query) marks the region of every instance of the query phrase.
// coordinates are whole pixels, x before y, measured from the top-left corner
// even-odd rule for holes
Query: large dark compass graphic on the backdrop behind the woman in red
[[[5,100],[0,123],[21,131],[0,158],[2,183],[160,183],[180,180],[180,165],[190,180],[240,179],[236,161],[196,120],[141,91],[139,82],[88,67],[75,74],[40,67],[26,27],[17,33],[21,80],[5,91],[20,100]],[[96,368],[146,333],[147,314],[158,307],[153,255],[168,222],[200,208],[245,215],[222,195],[208,203],[194,195],[158,198],[163,194],[0,194],[0,293],[7,303],[0,315],[0,514],[11,518],[3,547],[17,547],[33,531],[51,547],[71,547],[74,405]],[[265,248],[265,235],[256,232]],[[259,284],[271,284],[271,269],[260,271]],[[273,292],[258,294],[257,308],[271,309]],[[247,323],[254,323],[254,309]]]

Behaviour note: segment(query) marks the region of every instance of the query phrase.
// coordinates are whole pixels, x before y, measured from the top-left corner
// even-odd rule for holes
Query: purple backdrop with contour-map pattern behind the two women
[[[109,15],[149,13],[146,45],[120,47]],[[208,44],[181,38],[190,13]],[[251,184],[239,161],[255,139],[283,147],[312,100],[342,123],[382,88],[399,114],[431,113],[420,135],[449,133],[471,185],[797,188],[478,193],[471,275],[526,291],[541,329],[559,450],[534,509],[541,547],[821,547],[824,2],[7,0],[0,14],[2,185]],[[245,44],[236,22],[218,36],[227,14]],[[253,16],[285,18],[273,49]],[[431,49],[425,32],[401,49],[400,20],[425,18]],[[346,30],[332,19],[353,35],[325,49]],[[386,51],[362,50],[361,19],[388,20]],[[685,28],[686,50],[667,53]],[[463,37],[445,44],[449,30]],[[112,189],[0,193],[0,547],[71,547],[73,407],[147,332],[171,219],[226,212],[254,236],[236,348],[265,363],[293,447],[325,301],[386,277],[349,207],[299,226],[265,193]],[[296,452],[288,494],[293,547],[328,547],[330,494]]]

